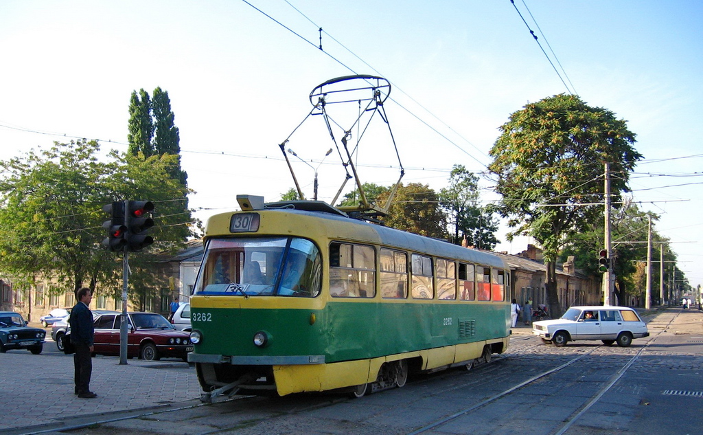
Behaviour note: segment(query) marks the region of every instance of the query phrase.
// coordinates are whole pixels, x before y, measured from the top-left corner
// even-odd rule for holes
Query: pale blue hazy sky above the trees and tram
[[[311,90],[333,77],[373,74],[392,82],[386,111],[404,182],[434,189],[446,185],[454,163],[483,172],[510,113],[568,92],[509,0],[250,4],[3,1],[0,158],[70,137],[126,151],[129,95],[160,86],[171,97],[182,165],[197,191],[191,206],[205,220],[235,208],[237,194],[273,201],[292,187],[278,144],[310,111]],[[690,283],[703,284],[703,4],[515,6],[553,62],[550,47],[555,52],[572,92],[627,120],[638,135],[645,160],[631,178],[633,198],[662,216],[655,228],[673,241]],[[331,145],[318,119],[288,143],[319,165],[326,201],[344,177],[334,155],[320,164]],[[379,167],[397,165],[382,134],[364,137],[358,158],[364,182],[397,179],[396,168]],[[311,196],[313,170],[294,166]],[[495,199],[488,179],[482,186],[486,201]],[[516,253],[527,242],[498,249]]]

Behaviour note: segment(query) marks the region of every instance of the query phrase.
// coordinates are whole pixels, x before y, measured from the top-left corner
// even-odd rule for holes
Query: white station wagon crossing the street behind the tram
[[[572,307],[560,319],[533,322],[532,333],[555,346],[600,340],[607,346],[617,341],[624,348],[632,344],[632,339],[650,335],[647,324],[632,308],[601,305]]]

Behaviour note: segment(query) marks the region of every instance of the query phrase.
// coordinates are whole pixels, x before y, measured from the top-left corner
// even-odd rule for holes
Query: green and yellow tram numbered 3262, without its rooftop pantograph
[[[498,256],[320,201],[240,203],[207,221],[191,296],[188,360],[204,397],[362,396],[508,347],[510,274]]]

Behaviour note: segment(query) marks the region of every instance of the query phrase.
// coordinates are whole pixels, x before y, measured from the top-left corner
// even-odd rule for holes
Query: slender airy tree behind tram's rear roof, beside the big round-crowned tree
[[[495,233],[498,221],[490,210],[479,204],[478,177],[463,165],[454,165],[449,175],[449,187],[439,191],[439,203],[446,210],[449,227],[453,229],[451,241],[480,249],[493,249],[498,244]]]

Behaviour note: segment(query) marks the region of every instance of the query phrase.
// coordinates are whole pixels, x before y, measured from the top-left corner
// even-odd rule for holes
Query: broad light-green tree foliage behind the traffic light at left
[[[56,143],[0,162],[0,270],[20,283],[42,275],[56,278],[53,291],[101,282],[120,294],[122,263],[101,246],[102,224],[109,218],[102,206],[144,199],[155,203],[150,234],[156,242],[130,257],[130,283],[153,288],[153,279],[140,280],[139,271],[155,259],[155,251],[174,251],[190,234],[191,214],[183,210],[188,189],[167,172],[175,156],[112,152],[102,162],[96,158],[99,149],[96,141]]]

